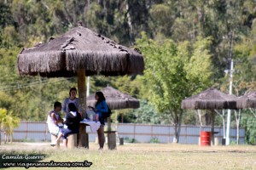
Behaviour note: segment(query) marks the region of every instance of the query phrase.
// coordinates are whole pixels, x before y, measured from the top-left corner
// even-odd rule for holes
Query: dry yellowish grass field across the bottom
[[[88,169],[255,169],[256,146],[199,146],[189,144],[124,144],[117,150],[97,150],[90,143],[90,150],[53,149],[49,144],[14,143],[0,145],[1,164],[7,155],[44,156],[44,161],[90,161]],[[4,156],[5,155],[5,156]],[[20,161],[20,160],[16,160]],[[24,160],[26,161],[26,160]],[[35,160],[29,160],[35,161]],[[30,167],[35,169],[37,167]],[[84,167],[41,167],[37,169],[84,169]],[[9,167],[7,169],[25,169]]]

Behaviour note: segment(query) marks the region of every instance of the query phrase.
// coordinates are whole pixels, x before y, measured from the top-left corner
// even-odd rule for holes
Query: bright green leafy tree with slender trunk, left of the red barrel
[[[211,83],[209,44],[209,39],[198,38],[194,46],[189,42],[178,46],[170,39],[148,39],[145,33],[137,40],[146,63],[143,88],[156,109],[172,118],[175,143],[183,117],[182,100]]]

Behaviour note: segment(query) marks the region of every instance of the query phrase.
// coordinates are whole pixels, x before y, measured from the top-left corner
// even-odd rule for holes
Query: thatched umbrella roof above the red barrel
[[[224,94],[216,88],[208,88],[200,94],[182,101],[183,109],[236,109],[236,96]]]

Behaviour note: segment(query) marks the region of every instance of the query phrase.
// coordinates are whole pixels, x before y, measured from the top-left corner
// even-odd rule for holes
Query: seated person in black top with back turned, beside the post
[[[51,145],[55,145],[61,139],[61,137],[63,137],[63,144],[67,148],[67,136],[69,134],[79,133],[79,123],[81,121],[81,115],[79,114],[79,111],[77,111],[77,108],[73,103],[68,104],[68,111],[69,112],[67,113],[65,121],[67,128],[62,128],[58,138]]]

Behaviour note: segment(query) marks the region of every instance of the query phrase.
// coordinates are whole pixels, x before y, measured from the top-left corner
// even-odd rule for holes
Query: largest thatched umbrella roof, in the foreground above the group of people
[[[86,76],[142,74],[143,55],[138,49],[126,48],[83,26],[50,38],[18,55],[20,75],[42,77],[73,77],[78,69]]]

